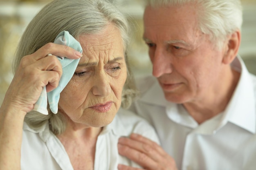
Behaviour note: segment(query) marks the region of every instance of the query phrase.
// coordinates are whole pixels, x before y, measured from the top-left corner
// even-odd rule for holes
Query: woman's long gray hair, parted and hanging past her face
[[[122,93],[121,106],[128,108],[137,95],[126,55],[129,43],[128,21],[108,0],[54,0],[47,4],[31,20],[23,33],[16,51],[14,70],[18,68],[23,56],[34,53],[48,42],[54,42],[61,31],[69,31],[70,35],[79,40],[82,34],[100,33],[110,23],[119,29],[124,42],[128,76]],[[61,114],[53,114],[49,106],[48,112],[49,115],[43,115],[31,111],[25,116],[25,121],[34,128],[49,121],[50,129],[54,134],[64,132],[66,127],[64,117]]]

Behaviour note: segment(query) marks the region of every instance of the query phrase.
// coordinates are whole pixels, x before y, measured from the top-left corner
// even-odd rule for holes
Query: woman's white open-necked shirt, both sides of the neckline
[[[117,170],[119,163],[139,167],[118,154],[121,136],[139,133],[159,144],[155,130],[144,119],[120,109],[114,120],[101,131],[96,144],[94,170]],[[21,170],[73,170],[64,146],[49,130],[49,124],[38,129],[23,126]]]

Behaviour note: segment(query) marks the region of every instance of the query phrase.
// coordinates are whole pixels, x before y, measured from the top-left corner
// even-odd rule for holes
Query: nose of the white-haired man
[[[160,77],[161,75],[172,73],[173,66],[171,63],[171,56],[163,50],[156,50],[151,56],[153,64],[153,76]]]

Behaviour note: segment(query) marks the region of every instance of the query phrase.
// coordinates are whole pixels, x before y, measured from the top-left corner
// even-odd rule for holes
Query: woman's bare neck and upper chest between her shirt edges
[[[93,170],[97,138],[102,128],[67,121],[65,132],[57,135],[74,170]]]

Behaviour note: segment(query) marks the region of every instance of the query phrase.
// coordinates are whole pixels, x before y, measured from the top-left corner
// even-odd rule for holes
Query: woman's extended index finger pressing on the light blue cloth
[[[79,59],[80,57],[82,57],[82,54],[79,51],[76,51],[69,46],[55,44],[52,42],[49,42],[42,46],[33,55],[35,60],[40,60],[48,54],[67,57],[70,59]]]

